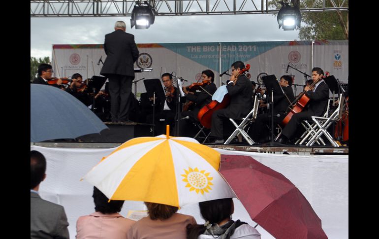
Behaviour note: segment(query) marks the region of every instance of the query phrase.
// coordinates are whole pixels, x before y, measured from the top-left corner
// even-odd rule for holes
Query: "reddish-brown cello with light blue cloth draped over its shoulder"
[[[250,64],[247,64],[245,68],[240,69],[239,72],[235,75],[236,80],[233,82],[233,84],[235,84],[235,82],[238,80],[238,76],[240,76],[243,72],[248,71],[249,69],[250,69]],[[219,89],[217,89],[217,90],[219,90]],[[204,105],[199,110],[199,113],[197,114],[197,119],[199,120],[200,124],[202,126],[204,126],[204,128],[210,129],[211,124],[212,124],[213,112],[215,112],[218,109],[226,108],[226,106],[228,106],[229,103],[230,103],[230,97],[226,93],[221,102],[212,101],[212,102]]]

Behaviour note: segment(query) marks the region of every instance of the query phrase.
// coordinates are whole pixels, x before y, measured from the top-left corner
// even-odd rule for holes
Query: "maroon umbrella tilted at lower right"
[[[276,239],[327,239],[312,206],[283,174],[241,155],[221,155],[220,172],[251,218]]]

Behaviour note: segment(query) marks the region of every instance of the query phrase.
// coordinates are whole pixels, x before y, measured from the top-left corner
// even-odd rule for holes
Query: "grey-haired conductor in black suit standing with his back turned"
[[[139,51],[134,35],[125,31],[125,22],[117,21],[115,31],[105,35],[104,51],[107,58],[100,74],[109,79],[112,122],[130,122],[128,99],[134,79],[133,64],[138,58]]]

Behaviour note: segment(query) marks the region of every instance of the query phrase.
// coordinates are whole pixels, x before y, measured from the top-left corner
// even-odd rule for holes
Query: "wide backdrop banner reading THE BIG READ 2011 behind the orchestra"
[[[304,85],[303,73],[311,75],[313,67],[329,71],[347,83],[348,40],[338,41],[268,41],[268,42],[208,42],[208,43],[154,43],[137,44],[140,55],[135,68],[153,68],[149,72],[135,74],[135,80],[160,78],[165,72],[196,82],[201,71],[211,69],[215,73],[215,83],[219,87],[229,76],[219,74],[231,67],[235,61],[250,64],[251,80],[256,81],[259,73],[294,75],[295,84]],[[80,73],[84,79],[100,75],[106,55],[103,45],[53,45],[53,70],[55,76],[71,77]],[[293,68],[285,72],[287,65]],[[303,73],[302,73],[303,72]],[[230,73],[230,71],[229,71]],[[134,85],[133,85],[134,87]],[[302,91],[298,86],[297,92]],[[134,92],[134,89],[133,89]],[[138,93],[146,92],[143,81],[137,83]]]

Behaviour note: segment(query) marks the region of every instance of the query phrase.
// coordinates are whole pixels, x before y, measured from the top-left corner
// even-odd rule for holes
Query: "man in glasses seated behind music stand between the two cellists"
[[[279,124],[283,121],[286,116],[285,111],[288,108],[289,104],[295,100],[295,96],[293,95],[293,91],[291,88],[292,78],[289,75],[283,75],[279,82],[280,86],[283,89],[283,92],[275,92],[274,91],[274,124]],[[265,134],[268,131],[263,131],[263,129],[267,129],[265,124],[271,125],[271,110],[268,110],[269,113],[258,114],[253,127],[251,128],[253,134],[253,140],[255,142],[264,142],[268,141],[268,135]],[[263,134],[262,134],[263,133]],[[250,134],[250,132],[249,132]]]

